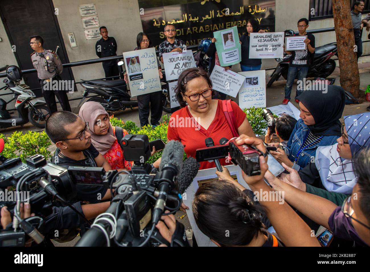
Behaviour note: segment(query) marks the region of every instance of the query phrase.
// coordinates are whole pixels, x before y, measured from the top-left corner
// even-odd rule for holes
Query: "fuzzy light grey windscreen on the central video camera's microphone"
[[[162,171],[166,164],[173,164],[179,173],[182,169],[182,162],[184,158],[184,145],[181,142],[171,140],[167,142],[162,153],[161,164],[159,164],[159,171]]]

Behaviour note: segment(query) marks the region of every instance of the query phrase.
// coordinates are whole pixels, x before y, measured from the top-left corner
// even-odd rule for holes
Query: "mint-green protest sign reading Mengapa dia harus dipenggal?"
[[[236,26],[215,31],[213,37],[216,38],[215,46],[222,67],[237,64],[241,61],[241,47]]]

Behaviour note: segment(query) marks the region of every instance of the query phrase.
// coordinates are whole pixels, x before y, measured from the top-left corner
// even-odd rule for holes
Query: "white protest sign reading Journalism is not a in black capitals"
[[[182,51],[182,53],[164,53],[162,56],[167,81],[178,79],[182,71],[187,68],[196,67],[191,50]]]

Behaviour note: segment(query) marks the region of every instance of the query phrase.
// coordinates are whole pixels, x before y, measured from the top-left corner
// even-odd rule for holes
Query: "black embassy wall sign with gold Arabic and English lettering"
[[[256,19],[268,32],[275,31],[275,0],[138,0],[138,3],[144,33],[157,49],[165,39],[164,26],[168,23],[175,25],[176,37],[187,46],[212,38],[213,31],[233,26],[238,27],[240,37],[246,32],[249,19]]]

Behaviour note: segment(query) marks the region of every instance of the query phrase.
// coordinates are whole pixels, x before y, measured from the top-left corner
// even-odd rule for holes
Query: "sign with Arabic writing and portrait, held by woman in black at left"
[[[161,91],[155,48],[123,53],[131,96]]]

